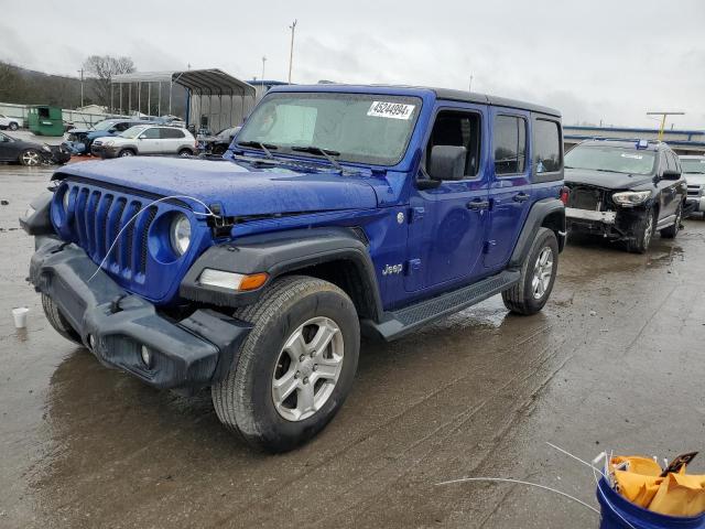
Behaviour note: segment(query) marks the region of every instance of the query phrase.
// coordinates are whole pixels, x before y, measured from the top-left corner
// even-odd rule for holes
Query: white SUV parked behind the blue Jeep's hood
[[[118,158],[152,154],[196,154],[198,144],[186,129],[176,127],[139,125],[113,138],[100,138],[93,142],[90,152],[96,156]]]

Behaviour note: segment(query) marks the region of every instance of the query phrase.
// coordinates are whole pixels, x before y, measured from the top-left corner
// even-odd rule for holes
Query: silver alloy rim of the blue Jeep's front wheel
[[[343,370],[340,327],[329,317],[308,320],[284,342],[272,376],[272,400],[288,421],[303,421],[326,403]]]

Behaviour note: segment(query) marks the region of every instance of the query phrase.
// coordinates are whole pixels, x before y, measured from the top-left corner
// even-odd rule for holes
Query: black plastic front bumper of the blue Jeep
[[[236,361],[250,324],[210,310],[171,320],[120,288],[76,245],[42,236],[36,247],[30,281],[105,365],[158,388],[192,391],[220,380]],[[152,356],[149,366],[143,345]]]

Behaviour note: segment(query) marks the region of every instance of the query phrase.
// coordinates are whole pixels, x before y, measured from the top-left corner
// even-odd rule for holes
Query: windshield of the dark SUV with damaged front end
[[[592,169],[627,174],[651,174],[655,162],[653,151],[620,147],[576,147],[565,155],[565,169]]]

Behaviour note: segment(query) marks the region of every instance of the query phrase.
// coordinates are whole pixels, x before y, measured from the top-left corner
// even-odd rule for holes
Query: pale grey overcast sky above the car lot
[[[139,71],[218,67],[294,83],[420,84],[556,107],[565,123],[705,128],[705,1],[0,0],[0,60],[77,75],[90,54]]]

